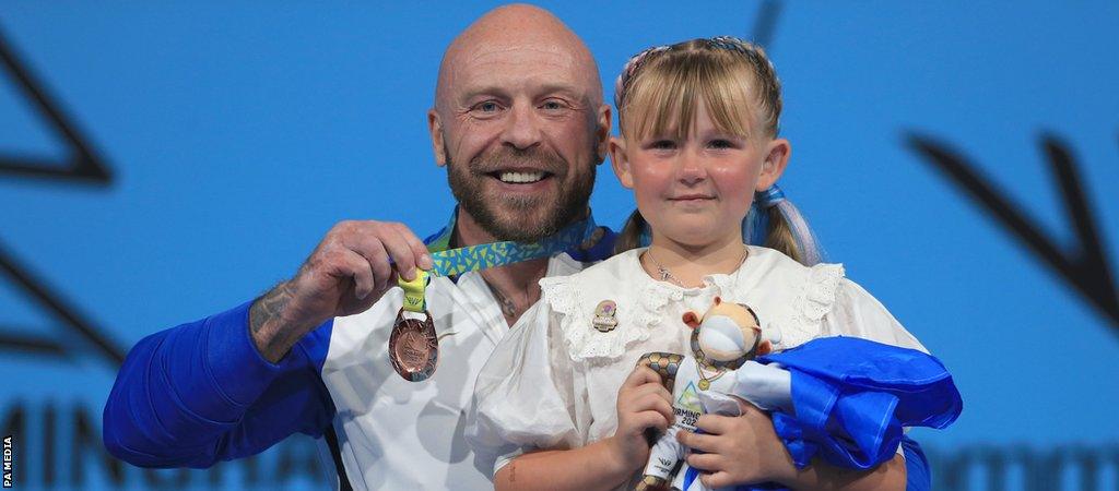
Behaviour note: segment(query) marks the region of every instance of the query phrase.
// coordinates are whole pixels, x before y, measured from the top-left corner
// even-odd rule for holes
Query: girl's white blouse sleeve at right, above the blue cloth
[[[822,336],[852,336],[929,352],[882,303],[847,278],[839,282],[835,304],[824,315]]]

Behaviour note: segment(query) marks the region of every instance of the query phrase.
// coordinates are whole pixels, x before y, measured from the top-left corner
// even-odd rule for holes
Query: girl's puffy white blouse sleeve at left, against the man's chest
[[[529,322],[506,334],[474,385],[466,435],[476,466],[491,478],[521,453],[585,444],[586,390],[563,348],[561,314],[538,302],[525,315]]]

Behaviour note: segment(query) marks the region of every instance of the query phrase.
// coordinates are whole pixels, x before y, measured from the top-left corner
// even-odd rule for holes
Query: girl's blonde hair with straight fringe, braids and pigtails
[[[698,104],[722,132],[775,138],[780,131],[781,82],[773,64],[761,47],[737,38],[693,39],[646,49],[630,58],[614,88],[619,131],[628,141],[650,135],[687,138]],[[806,263],[778,208],[761,211],[770,218],[764,245]],[[634,210],[618,236],[615,254],[638,247],[646,227]]]

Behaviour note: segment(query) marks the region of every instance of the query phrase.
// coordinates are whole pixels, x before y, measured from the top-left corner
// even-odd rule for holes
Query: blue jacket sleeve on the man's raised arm
[[[208,468],[299,432],[321,436],[335,406],[320,372],[333,321],[265,360],[248,333],[252,302],[142,339],[105,403],[105,447],[144,468]]]

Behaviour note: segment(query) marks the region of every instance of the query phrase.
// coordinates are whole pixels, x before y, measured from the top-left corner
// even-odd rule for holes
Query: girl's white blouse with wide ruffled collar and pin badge
[[[702,315],[716,295],[758,314],[777,350],[818,337],[853,336],[924,350],[843,265],[806,267],[784,254],[749,246],[737,271],[684,289],[641,267],[645,248],[619,254],[571,276],[540,280],[540,301],[506,336],[474,385],[467,438],[476,465],[496,474],[538,448],[576,448],[613,434],[618,389],[650,351],[690,355],[681,317]],[[618,325],[601,332],[595,308],[617,304]]]

